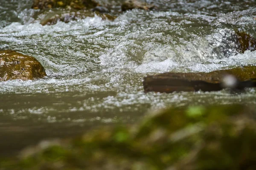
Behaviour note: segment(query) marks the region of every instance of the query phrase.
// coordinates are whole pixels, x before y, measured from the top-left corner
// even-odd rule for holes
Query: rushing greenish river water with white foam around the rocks
[[[120,8],[119,1],[101,2]],[[145,94],[142,83],[167,71],[255,65],[256,51],[239,54],[235,34],[256,37],[254,0],[152,2],[156,10],[115,13],[113,21],[95,15],[42,26],[32,18],[32,0],[0,0],[0,50],[33,56],[47,72],[44,79],[0,82],[0,156],[42,139],[131,124],[169,106],[256,104],[254,88]]]

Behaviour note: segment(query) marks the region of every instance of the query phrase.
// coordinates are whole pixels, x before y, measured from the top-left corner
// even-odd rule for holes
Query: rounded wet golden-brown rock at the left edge
[[[29,80],[46,76],[44,67],[34,57],[4,50],[0,51],[0,81]]]

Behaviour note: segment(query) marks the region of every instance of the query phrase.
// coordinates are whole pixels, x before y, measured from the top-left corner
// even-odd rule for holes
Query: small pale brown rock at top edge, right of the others
[[[134,8],[149,10],[149,9],[154,9],[155,6],[140,2],[138,0],[126,0],[124,3],[122,3],[121,8],[122,8],[122,11],[131,10]]]

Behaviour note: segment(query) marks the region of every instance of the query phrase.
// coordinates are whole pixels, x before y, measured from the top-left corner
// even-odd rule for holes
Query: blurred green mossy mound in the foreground
[[[255,109],[255,108],[254,108]],[[188,106],[134,126],[39,144],[1,170],[253,170],[256,111],[241,105]]]

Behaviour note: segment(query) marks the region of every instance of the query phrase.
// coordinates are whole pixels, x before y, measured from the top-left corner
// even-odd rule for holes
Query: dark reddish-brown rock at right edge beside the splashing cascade
[[[256,39],[245,32],[237,32],[237,42],[239,44],[239,52],[244,53],[246,50],[256,50]]]

